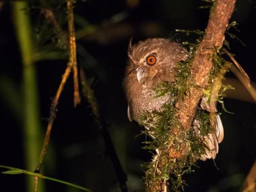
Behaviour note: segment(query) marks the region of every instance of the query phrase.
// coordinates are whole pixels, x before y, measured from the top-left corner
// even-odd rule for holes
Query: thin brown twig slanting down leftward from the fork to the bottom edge
[[[47,153],[47,149],[49,146],[49,139],[50,139],[51,130],[52,130],[52,124],[53,124],[54,119],[56,118],[56,111],[57,111],[59,96],[62,93],[63,87],[65,86],[65,83],[70,75],[71,67],[72,67],[71,63],[69,62],[68,66],[66,68],[66,71],[62,76],[58,91],[54,97],[54,100],[52,101],[51,109],[50,109],[50,118],[49,118],[49,122],[47,125],[47,131],[46,131],[46,136],[45,136],[45,140],[44,140],[44,145],[43,145],[42,151],[40,153],[40,157],[39,157],[39,161],[37,163],[36,169],[35,169],[35,173],[40,172],[42,161],[44,160],[44,157]],[[37,191],[37,186],[38,186],[38,178],[35,177],[35,190],[34,190],[35,192]]]

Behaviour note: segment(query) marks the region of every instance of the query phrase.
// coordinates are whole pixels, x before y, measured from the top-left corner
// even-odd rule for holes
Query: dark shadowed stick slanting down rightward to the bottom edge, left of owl
[[[81,89],[82,95],[87,99],[87,101],[91,105],[95,122],[96,122],[99,130],[101,131],[102,137],[105,142],[106,151],[108,152],[111,162],[113,163],[113,166],[115,168],[121,191],[126,192],[126,191],[128,191],[127,186],[126,186],[127,176],[124,173],[124,171],[122,169],[122,165],[121,165],[121,163],[118,159],[118,156],[116,154],[115,147],[113,145],[110,134],[108,132],[108,127],[105,125],[105,123],[102,122],[102,120],[100,118],[98,102],[94,95],[94,91],[90,87],[90,85],[87,81],[86,75],[84,74],[84,72],[81,68],[80,68],[80,82],[81,82],[81,86],[82,86],[82,89]]]

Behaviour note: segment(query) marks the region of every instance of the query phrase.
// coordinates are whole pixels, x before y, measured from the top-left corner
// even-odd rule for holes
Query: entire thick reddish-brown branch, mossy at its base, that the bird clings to
[[[225,39],[224,33],[235,2],[236,0],[216,0],[211,7],[207,28],[191,61],[191,78],[189,78],[189,81],[191,82],[192,79],[194,86],[188,87],[183,99],[178,99],[175,104],[177,111],[175,117],[171,118],[177,118],[180,123],[177,123],[177,127],[172,127],[168,132],[168,139],[163,142],[165,146],[158,146],[158,154],[153,158],[152,167],[146,173],[147,191],[168,191],[170,187],[166,180],[168,180],[168,174],[170,173],[177,177],[170,180],[170,182],[176,182],[173,190],[179,190],[183,181],[178,177],[181,177],[186,170],[188,172],[190,170],[190,168],[186,170],[182,168],[190,167],[190,163],[185,164],[193,161],[188,159],[191,151],[186,140],[187,137],[193,136],[190,131],[191,123],[195,118],[199,100],[204,94],[203,90],[207,87],[213,56],[222,48]],[[152,172],[153,168],[155,172]],[[179,173],[174,173],[177,170],[179,170]],[[164,176],[165,173],[167,173],[166,177]]]

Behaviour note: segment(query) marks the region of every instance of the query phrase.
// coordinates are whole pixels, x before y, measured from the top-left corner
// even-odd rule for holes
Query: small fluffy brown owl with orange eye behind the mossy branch
[[[133,45],[130,42],[129,63],[123,80],[124,92],[127,98],[127,116],[130,121],[142,124],[141,115],[144,112],[161,112],[161,107],[170,98],[169,95],[155,96],[153,90],[161,82],[174,82],[175,70],[179,61],[188,59],[188,52],[177,42],[165,38],[149,38]],[[201,108],[216,113],[216,103],[201,101]],[[219,151],[219,143],[223,140],[224,132],[219,115],[211,118],[212,132],[204,136],[205,154],[201,160],[215,159]],[[198,122],[193,123],[196,132]]]

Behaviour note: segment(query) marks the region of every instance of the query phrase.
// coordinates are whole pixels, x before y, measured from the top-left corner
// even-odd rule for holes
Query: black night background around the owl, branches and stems
[[[96,31],[77,40],[78,65],[89,78],[93,78],[103,118],[116,147],[123,169],[127,173],[130,191],[143,190],[143,170],[140,164],[150,161],[151,155],[142,150],[144,136],[136,122],[126,116],[126,101],[122,90],[122,79],[127,62],[127,46],[148,37],[172,37],[178,42],[195,41],[196,35],[186,36],[175,29],[204,30],[209,9],[198,9],[208,5],[202,1],[98,1],[77,2],[75,13],[96,26]],[[58,10],[59,11],[59,10]],[[255,27],[256,3],[238,0],[230,21],[236,20],[240,32],[231,29],[246,45],[228,38],[232,53],[251,81],[255,79]],[[65,15],[65,11],[62,12]],[[38,27],[38,11],[31,11],[33,26]],[[114,17],[113,17],[114,16]],[[77,18],[77,17],[76,17]],[[117,20],[116,20],[117,19]],[[65,16],[62,15],[62,20]],[[22,63],[13,26],[11,3],[5,1],[0,9],[0,75],[11,79],[18,95],[22,96]],[[63,29],[66,24],[62,25]],[[79,26],[76,26],[79,29]],[[37,89],[39,92],[40,117],[43,133],[51,98],[54,97],[67,60],[44,60],[36,63]],[[231,72],[227,74],[234,77]],[[2,83],[2,85],[1,85]],[[3,87],[5,81],[1,81]],[[237,92],[241,90],[236,90]],[[14,94],[14,93],[13,93]],[[244,94],[248,94],[244,92]],[[0,90],[0,164],[24,167],[22,117],[14,112],[12,98],[5,97]],[[15,97],[15,95],[14,95]],[[225,137],[214,161],[198,162],[195,172],[185,176],[186,191],[238,191],[255,161],[255,104],[235,99],[224,99],[229,114],[223,112]],[[20,100],[22,102],[22,100]],[[22,104],[22,103],[20,103]],[[18,114],[23,114],[22,107]],[[44,164],[45,174],[70,181],[93,191],[119,191],[116,175],[105,146],[91,116],[88,103],[73,108],[73,81],[70,77],[60,97],[57,118],[51,135],[50,160]],[[217,168],[218,167],[218,168]],[[24,175],[0,175],[0,191],[26,191]],[[78,191],[65,185],[46,181],[47,191]]]

